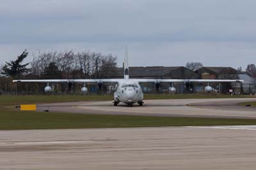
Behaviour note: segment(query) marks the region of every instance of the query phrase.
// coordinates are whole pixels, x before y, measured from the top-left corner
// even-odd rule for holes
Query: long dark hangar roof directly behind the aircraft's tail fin
[[[124,77],[124,68],[118,68],[115,77]],[[200,76],[184,66],[134,66],[129,67],[132,78],[199,78]]]

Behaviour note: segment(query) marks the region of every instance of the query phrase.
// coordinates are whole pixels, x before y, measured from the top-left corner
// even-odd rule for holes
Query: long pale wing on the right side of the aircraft
[[[131,79],[136,82],[243,82],[232,79]]]

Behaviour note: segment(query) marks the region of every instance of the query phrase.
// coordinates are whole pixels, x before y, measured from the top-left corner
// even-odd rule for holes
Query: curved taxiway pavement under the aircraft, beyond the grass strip
[[[92,114],[123,114],[140,116],[190,116],[214,118],[256,118],[256,107],[241,107],[238,103],[256,101],[256,98],[211,98],[147,100],[143,107],[114,107],[111,101],[72,102],[38,105],[39,111],[77,112]]]

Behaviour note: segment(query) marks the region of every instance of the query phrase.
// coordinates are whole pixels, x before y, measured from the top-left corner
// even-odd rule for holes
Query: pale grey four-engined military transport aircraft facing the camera
[[[84,86],[81,88],[82,93],[87,93],[86,83],[97,83],[98,86],[102,86],[105,82],[116,83],[113,104],[116,106],[120,102],[127,104],[128,107],[132,107],[132,104],[138,103],[143,105],[143,91],[141,89],[141,82],[154,82],[155,85],[161,82],[208,82],[208,86],[205,87],[205,91],[211,92],[212,87],[209,86],[209,82],[243,82],[243,80],[227,80],[227,79],[129,79],[129,66],[128,66],[128,55],[127,55],[127,43],[125,43],[125,58],[124,58],[124,79],[35,79],[35,80],[14,80],[13,82],[45,82],[45,92],[50,93],[52,91],[50,82],[80,82]],[[170,86],[169,91],[174,93],[176,89]]]

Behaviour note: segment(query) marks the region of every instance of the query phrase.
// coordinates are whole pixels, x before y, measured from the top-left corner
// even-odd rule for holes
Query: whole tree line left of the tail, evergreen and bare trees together
[[[110,78],[116,73],[116,57],[100,52],[51,51],[33,54],[33,60],[24,63],[29,52],[24,50],[16,60],[6,62],[1,68],[0,91],[28,91],[28,84],[19,84],[19,89],[12,83],[13,79],[102,79]],[[66,83],[67,84],[67,83]],[[67,90],[66,84],[61,91]],[[34,86],[31,88],[31,86]],[[29,86],[29,91],[40,91],[45,84]],[[38,87],[39,86],[39,87]],[[80,88],[80,87],[78,87]]]

